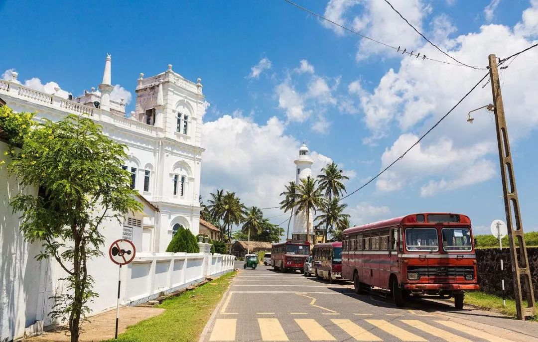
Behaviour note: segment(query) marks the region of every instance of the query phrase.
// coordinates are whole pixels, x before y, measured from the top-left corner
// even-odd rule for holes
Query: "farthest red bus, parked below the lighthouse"
[[[300,270],[305,266],[305,260],[310,255],[308,241],[289,240],[271,246],[271,262],[274,270]]]

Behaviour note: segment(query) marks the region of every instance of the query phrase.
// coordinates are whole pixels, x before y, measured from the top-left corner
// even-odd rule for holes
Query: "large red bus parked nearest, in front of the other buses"
[[[391,291],[398,307],[409,294],[454,297],[478,290],[471,220],[455,213],[419,213],[343,232],[343,277],[355,292]]]

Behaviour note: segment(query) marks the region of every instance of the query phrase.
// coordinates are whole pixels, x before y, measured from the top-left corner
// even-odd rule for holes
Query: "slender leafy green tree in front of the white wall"
[[[18,113],[26,117],[27,113]],[[0,131],[5,131],[5,121]],[[126,146],[102,132],[85,116],[68,115],[59,122],[34,122],[24,136],[10,132],[19,149],[12,149],[10,174],[23,188],[35,187],[37,196],[18,194],[13,212],[22,213],[20,229],[43,249],[38,260],[53,258],[65,271],[65,294],[56,296],[52,318],[67,320],[70,340],[89,313],[88,303],[98,296],[88,273],[90,259],[102,255],[104,222],[123,224],[128,212],[143,209],[130,188],[130,174],[122,169]]]

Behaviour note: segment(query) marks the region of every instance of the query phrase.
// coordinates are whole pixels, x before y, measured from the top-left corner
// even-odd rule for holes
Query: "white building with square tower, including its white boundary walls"
[[[200,227],[201,126],[204,96],[201,80],[191,82],[172,70],[144,78],[136,87],[135,110],[126,115],[123,99],[112,100],[111,57],[107,56],[98,91],[80,97],[60,96],[59,88],[47,94],[23,86],[12,73],[0,79],[0,98],[14,111],[36,112],[37,119],[60,120],[68,113],[89,115],[112,139],[128,147],[124,168],[131,187],[139,192],[143,212],[129,215],[123,224],[107,222],[105,246],[127,238],[136,246],[135,260],[121,269],[123,304],[136,304],[233,268],[233,257],[207,253],[164,253],[180,226],[198,234]],[[9,146],[0,141],[0,153]],[[52,296],[65,293],[65,276],[58,263],[37,261],[40,244],[29,244],[19,230],[19,215],[11,213],[10,198],[17,180],[0,169],[0,341],[39,331],[54,322],[48,317]],[[37,194],[37,189],[24,189]],[[92,260],[89,271],[100,294],[90,303],[93,314],[116,305],[118,267],[106,256]],[[112,290],[114,289],[114,290]]]

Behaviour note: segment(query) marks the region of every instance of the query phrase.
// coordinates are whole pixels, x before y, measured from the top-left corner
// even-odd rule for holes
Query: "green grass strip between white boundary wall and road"
[[[200,338],[211,312],[228,289],[237,272],[230,272],[192,291],[169,298],[157,308],[166,309],[159,316],[143,320],[118,336],[103,342],[192,342]]]

